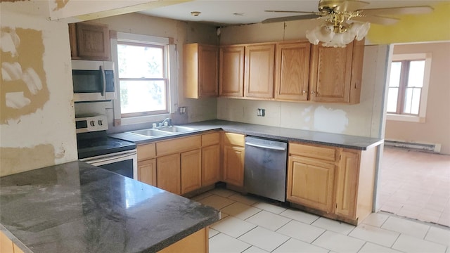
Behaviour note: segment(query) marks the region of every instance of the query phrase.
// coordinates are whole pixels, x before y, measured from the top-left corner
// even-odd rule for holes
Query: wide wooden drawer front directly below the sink
[[[168,155],[174,153],[180,153],[187,150],[194,150],[200,148],[202,144],[202,136],[189,136],[184,138],[176,138],[169,141],[161,141],[156,143],[156,154]]]

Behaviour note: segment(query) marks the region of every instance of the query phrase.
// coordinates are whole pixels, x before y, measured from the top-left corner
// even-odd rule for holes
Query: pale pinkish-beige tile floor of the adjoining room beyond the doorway
[[[385,147],[378,197],[382,211],[450,226],[450,155]]]

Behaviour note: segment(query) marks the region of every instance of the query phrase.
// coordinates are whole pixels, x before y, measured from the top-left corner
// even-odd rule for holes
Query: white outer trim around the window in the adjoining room
[[[418,122],[425,123],[425,116],[427,112],[427,100],[428,100],[428,86],[430,84],[431,73],[431,58],[432,53],[401,53],[392,55],[392,61],[395,60],[423,60],[425,59],[425,70],[423,73],[423,87],[420,95],[420,108],[419,115],[397,115],[393,113],[387,113],[387,120],[402,121],[402,122]],[[390,76],[390,74],[389,74]]]

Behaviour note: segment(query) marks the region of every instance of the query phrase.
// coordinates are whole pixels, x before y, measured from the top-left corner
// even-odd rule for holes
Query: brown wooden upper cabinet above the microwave
[[[92,22],[69,24],[69,37],[72,59],[111,59],[108,25]]]

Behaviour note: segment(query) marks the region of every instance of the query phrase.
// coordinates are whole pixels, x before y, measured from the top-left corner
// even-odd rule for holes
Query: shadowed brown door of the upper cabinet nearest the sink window
[[[219,95],[219,48],[211,45],[198,46],[200,98]]]

